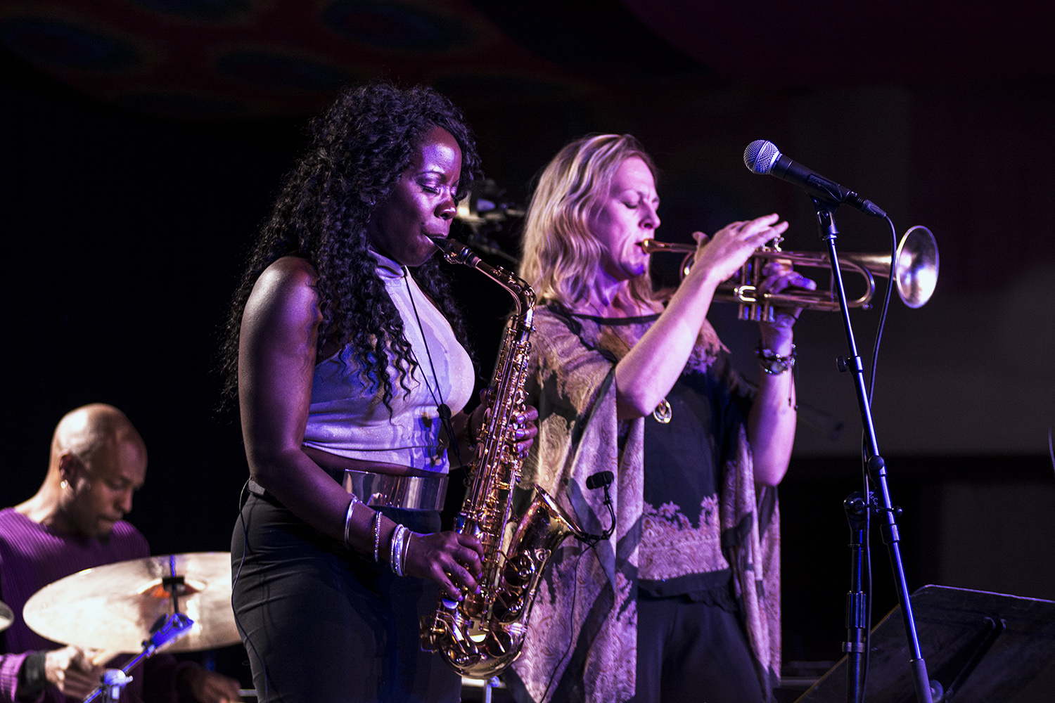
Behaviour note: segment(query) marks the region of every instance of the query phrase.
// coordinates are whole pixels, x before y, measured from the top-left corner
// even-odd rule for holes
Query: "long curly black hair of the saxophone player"
[[[404,390],[406,372],[417,364],[399,311],[377,274],[377,259],[367,252],[366,223],[373,204],[410,168],[414,149],[434,126],[449,132],[461,148],[460,199],[480,177],[480,158],[461,111],[433,89],[378,82],[345,90],[311,121],[308,150],[286,176],[234,294],[220,349],[225,404],[237,397],[238,334],[253,284],[273,261],[292,254],[311,263],[318,275],[322,323],[316,353],[328,343],[350,345],[366,378],[383,388],[384,404],[391,410],[389,353]],[[410,271],[458,338],[465,339],[461,313],[436,257]]]

